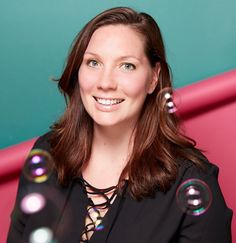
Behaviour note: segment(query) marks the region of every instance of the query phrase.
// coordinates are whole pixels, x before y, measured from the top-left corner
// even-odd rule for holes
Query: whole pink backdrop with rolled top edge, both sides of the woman
[[[178,89],[175,99],[187,135],[220,167],[223,194],[236,212],[236,70]],[[35,139],[0,151],[0,242],[6,241],[19,172]],[[232,234],[236,243],[235,216]]]

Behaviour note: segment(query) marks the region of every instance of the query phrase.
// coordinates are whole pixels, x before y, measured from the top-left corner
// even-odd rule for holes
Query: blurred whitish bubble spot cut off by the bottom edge
[[[29,237],[29,243],[52,243],[53,233],[47,227],[34,230]]]

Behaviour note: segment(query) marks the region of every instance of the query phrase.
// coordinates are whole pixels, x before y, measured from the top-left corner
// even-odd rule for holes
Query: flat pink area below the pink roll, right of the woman
[[[236,212],[236,101],[184,122],[186,133],[197,141],[209,160],[220,168],[219,183],[227,205]],[[236,242],[236,218],[232,223]]]

